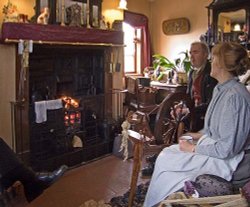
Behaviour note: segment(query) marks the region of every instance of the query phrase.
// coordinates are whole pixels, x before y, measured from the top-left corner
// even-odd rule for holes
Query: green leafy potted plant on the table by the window
[[[162,80],[164,74],[168,73],[168,81],[175,83],[185,84],[187,83],[187,73],[191,69],[191,62],[188,55],[188,51],[179,53],[184,57],[179,57],[174,61],[170,61],[167,57],[155,54],[153,55],[153,68],[155,69],[155,76],[158,81]],[[174,80],[174,78],[177,80]]]

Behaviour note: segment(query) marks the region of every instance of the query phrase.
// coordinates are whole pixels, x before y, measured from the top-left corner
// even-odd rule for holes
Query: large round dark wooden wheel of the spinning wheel
[[[178,110],[176,110],[177,105]],[[186,111],[187,108],[189,112]],[[176,143],[185,128],[188,130],[192,128],[193,119],[193,101],[189,95],[183,92],[169,94],[162,101],[156,115],[154,128],[156,144]]]

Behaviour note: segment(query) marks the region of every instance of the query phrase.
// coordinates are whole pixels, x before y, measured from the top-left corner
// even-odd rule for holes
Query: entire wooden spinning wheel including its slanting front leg
[[[180,103],[183,104],[183,106],[180,108],[181,110],[184,109],[184,105],[189,108],[190,112],[185,114],[185,116],[180,115],[180,113],[177,114],[174,112],[175,110],[173,110],[176,109],[176,105]],[[156,107],[155,109],[157,109],[157,114],[154,120],[154,133],[152,133],[152,130],[149,126],[149,114],[139,111],[131,111],[127,114],[127,120],[134,124],[134,131],[128,130],[129,139],[134,143],[134,165],[130,184],[129,207],[133,205],[136,183],[141,168],[142,155],[149,150],[154,150],[155,152],[159,153],[163,147],[176,142],[178,130],[183,131],[183,119],[192,124],[193,102],[189,96],[183,92],[169,94],[161,102],[160,107]],[[135,117],[133,118],[133,116]],[[149,143],[145,139],[146,137],[148,137],[150,141],[152,140],[154,143]]]

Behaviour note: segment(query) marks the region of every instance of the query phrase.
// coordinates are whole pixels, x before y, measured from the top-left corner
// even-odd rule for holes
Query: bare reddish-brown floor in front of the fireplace
[[[28,207],[79,207],[86,201],[108,202],[130,185],[133,160],[113,155],[67,171]],[[139,178],[138,183],[148,180]]]

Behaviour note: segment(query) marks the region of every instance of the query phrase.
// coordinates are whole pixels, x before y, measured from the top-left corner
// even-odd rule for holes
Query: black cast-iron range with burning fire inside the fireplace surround
[[[111,152],[115,130],[105,115],[104,52],[103,48],[34,46],[29,62],[34,169],[75,166]],[[46,119],[43,114],[38,117],[39,107],[43,113],[45,107]],[[73,146],[76,137],[81,147]]]

